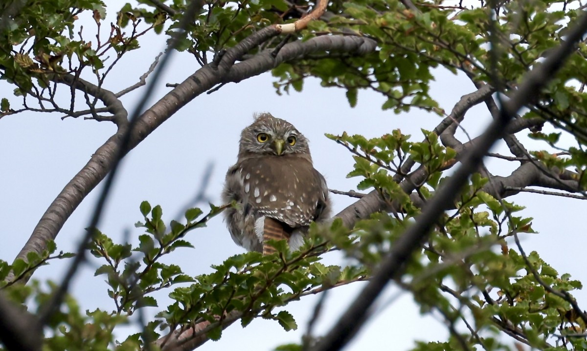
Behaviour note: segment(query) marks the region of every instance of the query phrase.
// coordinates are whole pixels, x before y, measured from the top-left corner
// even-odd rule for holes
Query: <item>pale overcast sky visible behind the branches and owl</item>
[[[117,2],[107,1],[107,4],[113,4],[108,9],[112,21]],[[92,22],[84,26],[87,40],[92,40]],[[165,45],[162,36],[149,36],[148,40],[144,38],[141,43],[143,47],[140,50],[125,55],[117,64],[105,88],[119,91],[134,84]],[[174,55],[152,102],[168,91],[164,83],[178,83],[197,69],[198,64],[190,55]],[[436,82],[431,86],[431,95],[447,112],[461,96],[474,90],[466,77],[457,77],[441,70],[434,74]],[[224,175],[236,160],[239,134],[242,128],[252,122],[254,113],[267,111],[294,124],[311,142],[316,169],[325,175],[329,188],[339,190],[355,189],[360,179],[346,179],[346,174],[352,169],[353,159],[345,148],[327,139],[325,133],[340,134],[346,131],[365,137],[379,137],[399,128],[404,134],[413,135],[414,141],[420,141],[420,128],[433,130],[441,121],[436,115],[418,110],[400,115],[382,111],[380,107],[383,98],[365,91],[359,94],[357,106],[350,108],[345,91],[322,88],[319,81],[313,79],[306,81],[302,93],[277,96],[272,81],[274,79],[270,74],[263,74],[238,84],[227,84],[215,93],[196,98],[154,131],[124,158],[99,225],[100,230],[119,241],[124,231],[130,230],[133,243],[137,243],[137,237],[142,232],[135,229],[133,224],[142,219],[140,202],[148,200],[153,206],[161,205],[164,220],[168,222],[174,219],[197,192],[209,162],[214,164],[214,171],[206,195],[216,205],[220,205]],[[0,97],[8,97],[15,107],[19,99],[12,96],[13,89],[5,81],[0,83]],[[141,92],[138,90],[123,97],[129,112]],[[67,98],[64,101],[68,101]],[[483,131],[489,120],[487,110],[481,106],[467,114],[463,125],[470,136],[475,137]],[[0,120],[0,162],[3,165],[0,173],[0,222],[3,223],[0,235],[4,242],[0,247],[2,260],[11,262],[14,259],[59,191],[115,131],[115,126],[109,122],[81,118],[66,118],[62,121],[56,114],[22,113]],[[524,134],[520,134],[522,140],[526,139]],[[501,144],[496,150],[508,154]],[[488,166],[494,174],[508,175],[514,165],[492,160]],[[58,251],[75,251],[83,228],[89,223],[100,187],[82,202],[60,231],[56,240]],[[334,213],[353,202],[340,195],[333,195],[332,199]],[[587,272],[578,260],[583,255],[586,242],[581,216],[587,213],[586,202],[535,194],[521,194],[508,201],[527,206],[521,215],[534,217],[533,227],[540,232],[522,236],[527,253],[537,250],[559,273],[568,272],[573,278],[587,281]],[[195,248],[176,251],[171,261],[190,275],[211,272],[210,265],[243,252],[232,242],[221,216],[215,217],[207,228],[191,231],[187,240]],[[338,257],[329,257],[327,261],[330,264],[344,264]],[[54,262],[43,267],[35,277],[60,281],[64,263],[67,264]],[[97,263],[94,261],[94,264]],[[90,311],[95,308],[113,309],[113,302],[106,295],[104,278],[93,277],[96,267],[86,265],[80,271],[72,292],[83,308]],[[362,286],[356,283],[336,288],[330,293],[318,325],[318,333],[328,330]],[[380,302],[395,296],[397,291],[393,287],[388,289]],[[163,294],[163,298],[166,294]],[[580,292],[575,296],[578,297],[579,305],[585,308],[585,293]],[[225,330],[219,342],[208,342],[200,349],[226,350],[228,347],[238,347],[243,351],[272,350],[282,343],[299,342],[316,301],[316,297],[308,297],[286,306],[298,322],[299,329],[295,332],[285,332],[277,322],[256,319],[245,329],[238,323],[231,326]],[[160,306],[164,308],[167,303],[168,300],[162,299]],[[390,347],[405,350],[414,346],[414,340],[443,341],[446,335],[446,329],[436,316],[421,316],[411,302],[411,297],[403,294],[371,319],[367,328],[347,350],[365,350],[367,347],[375,350]],[[120,338],[121,341],[123,339]]]

